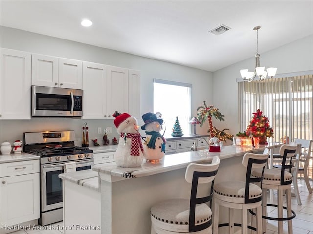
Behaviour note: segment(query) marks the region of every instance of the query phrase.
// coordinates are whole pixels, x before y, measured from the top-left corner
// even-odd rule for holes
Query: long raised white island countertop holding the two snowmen
[[[224,146],[221,152],[209,152],[208,149],[190,151],[183,153],[176,153],[165,155],[158,164],[151,164],[143,162],[140,167],[123,168],[118,167],[115,162],[95,165],[92,170],[108,174],[111,176],[117,176],[122,178],[138,178],[143,176],[150,176],[157,173],[168,172],[180,168],[186,168],[189,163],[210,163],[213,156],[219,156],[221,160],[243,156],[246,152],[258,153],[263,152],[265,147],[276,148],[279,144],[260,145],[258,148],[241,147],[241,146]]]

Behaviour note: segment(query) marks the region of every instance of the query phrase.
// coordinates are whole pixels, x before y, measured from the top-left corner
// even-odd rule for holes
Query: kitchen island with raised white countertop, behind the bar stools
[[[213,156],[221,159],[216,183],[244,180],[246,169],[242,158],[246,152],[262,153],[280,144],[258,148],[225,146],[221,152],[199,150],[166,155],[158,164],[142,163],[136,168],[121,168],[114,162],[93,167],[101,179],[101,233],[147,234],[151,232],[150,208],[158,201],[189,198],[190,184],[184,179],[189,163],[211,163]],[[200,187],[201,193],[201,187]],[[222,212],[221,212],[222,213]]]

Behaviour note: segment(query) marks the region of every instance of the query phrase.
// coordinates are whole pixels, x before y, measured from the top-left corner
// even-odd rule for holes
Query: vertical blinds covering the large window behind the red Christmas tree
[[[289,138],[313,138],[313,75],[238,82],[239,126],[246,130],[257,109],[268,117],[274,130],[270,142]]]

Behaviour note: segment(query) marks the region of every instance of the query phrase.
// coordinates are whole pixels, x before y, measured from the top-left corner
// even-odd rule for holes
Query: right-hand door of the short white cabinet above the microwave
[[[59,87],[82,89],[82,61],[59,58]]]

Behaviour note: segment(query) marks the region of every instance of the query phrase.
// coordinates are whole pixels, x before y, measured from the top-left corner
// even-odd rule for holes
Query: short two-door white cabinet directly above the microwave
[[[32,54],[31,84],[82,89],[82,61]]]

